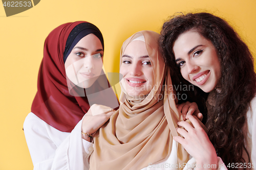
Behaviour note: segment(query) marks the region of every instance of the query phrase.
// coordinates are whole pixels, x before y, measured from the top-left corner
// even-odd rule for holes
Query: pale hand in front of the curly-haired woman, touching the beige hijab
[[[178,122],[178,125],[184,129],[176,128],[176,130],[184,138],[180,136],[174,136],[173,139],[179,142],[188,152],[188,154],[196,159],[197,165],[200,164],[201,167],[203,164],[217,165],[218,160],[215,148],[210,142],[206,132],[200,126],[197,117],[189,115],[188,119],[194,127],[189,125],[187,122]]]

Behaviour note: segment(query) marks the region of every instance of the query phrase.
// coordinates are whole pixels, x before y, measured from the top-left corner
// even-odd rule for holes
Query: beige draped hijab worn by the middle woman
[[[158,49],[159,34],[141,31],[124,41],[120,65],[126,46],[142,35],[151,60],[155,86],[143,99],[134,99],[126,94],[121,81],[120,108],[94,136],[90,169],[141,169],[149,163],[164,161],[172,151],[173,136],[178,135],[175,128],[182,115],[175,105],[169,73],[165,74],[165,64]],[[189,155],[180,144],[177,154],[179,163],[187,162]]]

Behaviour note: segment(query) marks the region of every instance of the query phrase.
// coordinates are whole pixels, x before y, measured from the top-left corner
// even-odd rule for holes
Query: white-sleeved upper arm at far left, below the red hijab
[[[70,133],[53,128],[32,112],[23,127],[34,170],[51,169],[56,149]]]

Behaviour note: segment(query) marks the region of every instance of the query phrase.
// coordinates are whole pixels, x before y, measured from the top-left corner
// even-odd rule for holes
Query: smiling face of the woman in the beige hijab
[[[122,56],[120,74],[125,83],[126,93],[132,97],[142,97],[154,86],[154,72],[143,41],[132,41],[126,46]]]

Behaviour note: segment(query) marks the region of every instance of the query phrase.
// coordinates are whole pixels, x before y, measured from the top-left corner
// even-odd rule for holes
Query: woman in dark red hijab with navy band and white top
[[[65,23],[46,38],[37,93],[24,122],[34,169],[51,169],[59,145],[72,133],[81,134],[72,130],[90,106],[118,108],[102,70],[103,52],[102,34],[89,22]],[[84,144],[81,135],[74,140]]]

